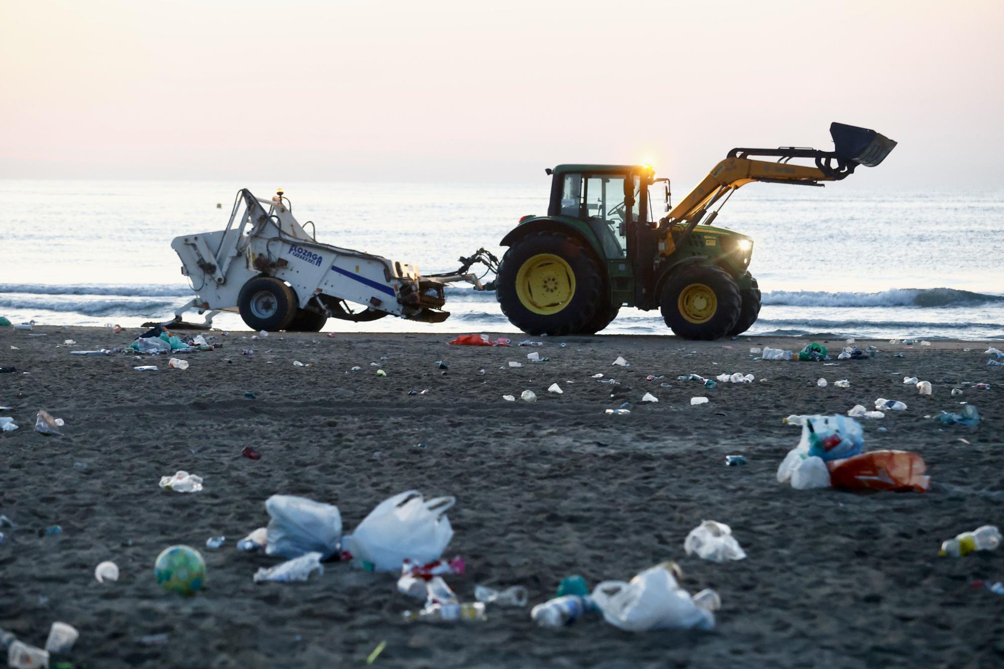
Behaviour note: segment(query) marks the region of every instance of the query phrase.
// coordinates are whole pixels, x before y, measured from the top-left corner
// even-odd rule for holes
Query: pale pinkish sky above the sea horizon
[[[736,146],[900,146],[997,187],[1004,2],[11,2],[0,178],[505,181]]]

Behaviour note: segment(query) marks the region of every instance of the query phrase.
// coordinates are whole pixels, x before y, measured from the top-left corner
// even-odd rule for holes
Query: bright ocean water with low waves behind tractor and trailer
[[[0,181],[0,315],[124,326],[167,320],[192,296],[171,240],[225,227],[237,190],[285,189],[317,239],[454,270],[547,209],[548,181],[511,184]],[[678,197],[683,195],[678,185]],[[222,208],[216,207],[217,203]],[[1004,339],[1004,190],[871,192],[754,184],[716,225],[755,240],[757,334]],[[489,277],[490,278],[490,277]],[[329,319],[327,330],[515,332],[494,293],[449,291],[443,323]],[[190,320],[199,319],[194,312]],[[244,328],[221,313],[214,324]],[[658,310],[623,308],[605,332],[670,333]]]

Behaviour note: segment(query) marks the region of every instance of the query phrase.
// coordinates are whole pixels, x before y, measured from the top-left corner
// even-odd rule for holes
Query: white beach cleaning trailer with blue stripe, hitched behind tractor
[[[309,234],[281,189],[271,200],[240,190],[226,229],[171,242],[196,295],[165,324],[182,323],[192,309],[208,311],[199,327],[209,327],[220,311],[236,311],[252,329],[267,331],[318,331],[329,317],[363,321],[389,313],[440,322],[450,315],[442,310],[446,284],[467,281],[483,289],[467,270],[474,262],[498,263],[480,249],[461,258],[456,273],[422,276],[409,263],[320,243],[307,224]]]

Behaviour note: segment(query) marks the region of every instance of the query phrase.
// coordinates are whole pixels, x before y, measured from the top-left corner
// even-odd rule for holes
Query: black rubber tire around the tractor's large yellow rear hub
[[[571,296],[563,305],[560,302],[544,307],[535,305],[535,308],[548,310],[559,306],[550,313],[539,313],[528,308],[520,299],[517,286],[517,277],[523,265],[534,256],[542,254],[557,256],[562,260],[571,270],[571,276],[562,277],[561,273],[567,274],[567,271],[557,262],[549,266],[559,273],[558,279],[571,279],[574,282]],[[584,331],[587,324],[593,322],[596,311],[606,308],[602,287],[603,275],[592,252],[578,239],[559,232],[537,232],[513,243],[502,258],[496,281],[499,304],[509,321],[529,334],[550,337]],[[529,282],[522,290],[524,294],[532,296]],[[540,294],[546,296],[542,292]]]

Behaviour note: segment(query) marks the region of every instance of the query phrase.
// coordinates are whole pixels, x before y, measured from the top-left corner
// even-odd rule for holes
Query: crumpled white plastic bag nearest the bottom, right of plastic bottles
[[[694,604],[663,565],[642,572],[631,583],[600,583],[592,591],[592,601],[607,623],[629,632],[715,629],[715,615]]]

